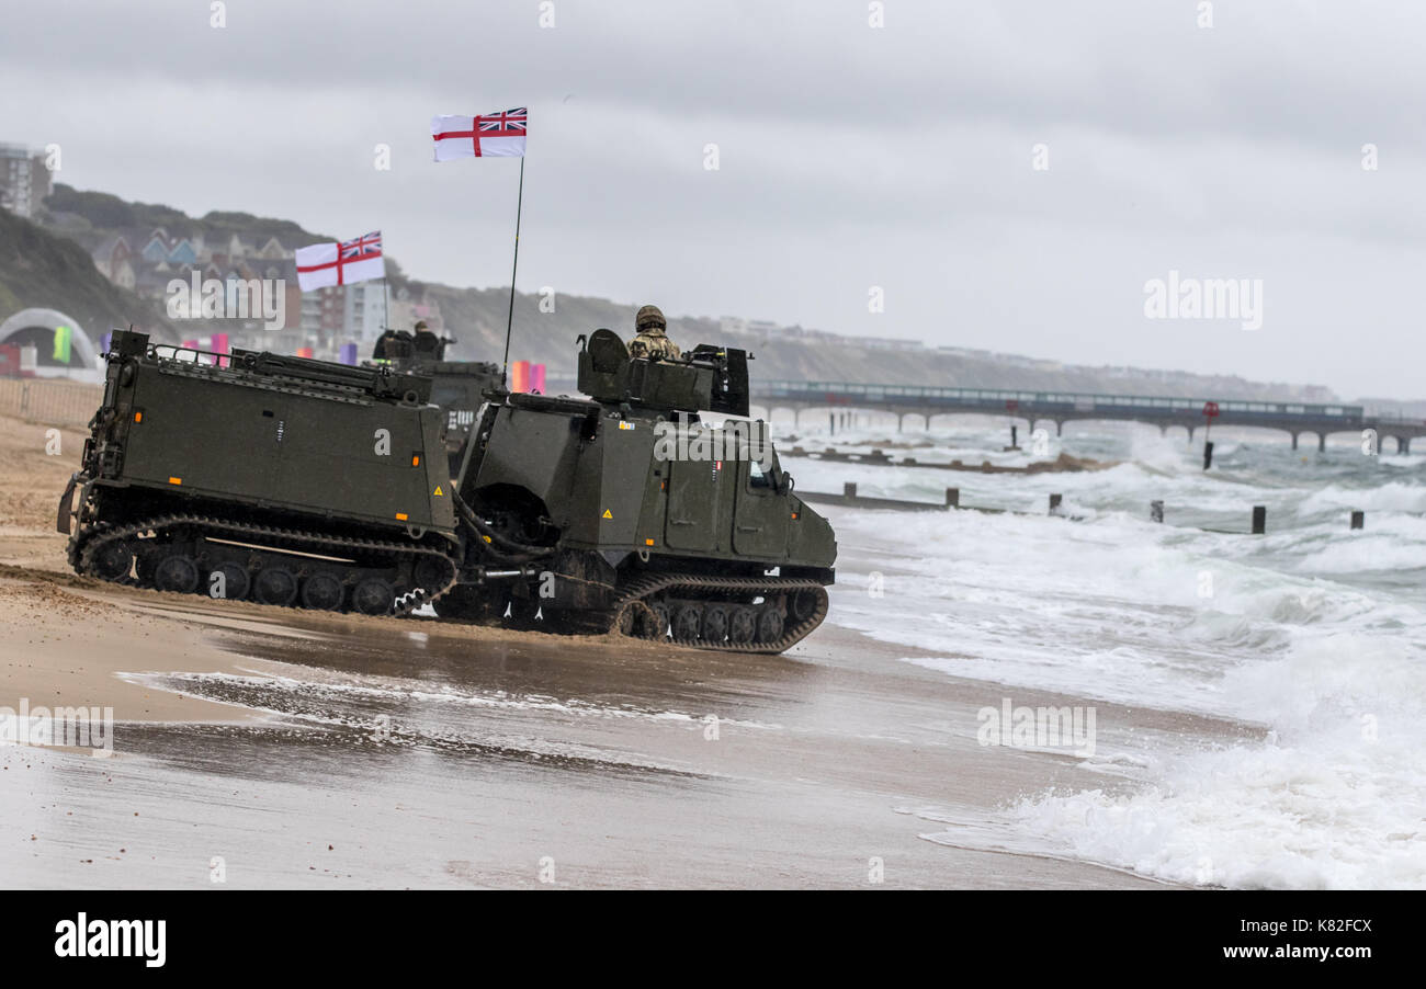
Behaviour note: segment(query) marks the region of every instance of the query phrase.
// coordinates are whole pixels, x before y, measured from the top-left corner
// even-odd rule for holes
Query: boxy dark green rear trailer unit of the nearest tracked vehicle
[[[80,573],[365,614],[443,593],[461,554],[431,379],[117,331],[60,502]],[[74,490],[78,489],[76,504]]]

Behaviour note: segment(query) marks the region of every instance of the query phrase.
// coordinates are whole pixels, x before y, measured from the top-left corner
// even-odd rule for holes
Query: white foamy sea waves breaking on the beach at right
[[[1426,462],[1214,436],[1206,475],[1202,433],[1189,449],[1124,429],[1071,440],[1125,460],[1095,473],[811,467],[804,489],[934,500],[960,482],[963,503],[1038,513],[1061,492],[1085,519],[838,512],[843,544],[868,549],[838,563],[831,620],[930,651],[908,661],[948,675],[1255,725],[1117,755],[1132,785],[1027,794],[927,837],[1195,885],[1426,886]],[[987,459],[998,439],[984,435]],[[1266,504],[1269,532],[1155,526],[1154,499],[1171,520],[1238,530]]]

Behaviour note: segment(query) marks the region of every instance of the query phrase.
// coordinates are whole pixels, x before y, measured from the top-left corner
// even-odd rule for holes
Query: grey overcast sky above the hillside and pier
[[[489,286],[518,161],[438,165],[429,118],[528,105],[522,291],[1426,396],[1420,4],[871,6],[16,3],[0,140]],[[1147,318],[1171,269],[1262,279],[1262,328]]]

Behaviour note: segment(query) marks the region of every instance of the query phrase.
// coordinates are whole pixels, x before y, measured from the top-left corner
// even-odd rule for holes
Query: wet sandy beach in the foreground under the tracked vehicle
[[[64,462],[19,482],[7,462],[0,705],[101,704],[120,724],[110,758],[0,748],[10,885],[1162,888],[924,838],[1119,781],[978,745],[1005,688],[834,617],[746,657],[114,587],[67,574],[36,517],[53,527]],[[1236,731],[1097,707],[1101,750]]]

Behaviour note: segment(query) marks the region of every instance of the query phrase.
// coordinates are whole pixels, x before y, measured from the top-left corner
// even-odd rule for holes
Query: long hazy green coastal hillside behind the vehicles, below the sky
[[[90,261],[88,251],[94,251],[114,234],[143,238],[155,227],[163,227],[171,235],[202,235],[208,244],[225,242],[234,234],[251,245],[265,244],[270,237],[275,237],[287,248],[334,239],[331,235],[304,229],[289,219],[218,211],[193,218],[173,207],[127,202],[107,192],[81,191],[63,184],[54,187],[37,218],[46,229],[0,214],[0,316],[21,305],[47,305],[64,309],[87,328],[131,321],[138,326],[173,332],[173,325],[158,311],[158,302],[141,301],[110,285]],[[392,294],[409,288],[412,296],[419,299],[425,294],[439,305],[445,332],[459,341],[452,356],[501,359],[508,288],[453,288],[421,282],[405,275],[389,257],[386,271]],[[677,302],[672,299],[612,302],[558,295],[555,312],[540,312],[539,302],[536,295],[520,294],[516,298],[511,359],[543,362],[555,375],[573,372],[575,338],[579,333],[607,326],[629,336],[637,306],[653,302],[663,306],[669,316],[669,335],[680,346],[726,343],[752,352],[756,356],[752,365],[754,379],[1328,400],[1326,389],[1259,383],[1236,375],[1094,368],[935,346],[887,349],[851,338],[821,335],[813,339],[780,331],[739,335],[723,331],[717,319],[677,315]],[[184,335],[205,332],[204,326],[202,321],[185,321]],[[220,328],[220,323],[211,326]],[[914,336],[915,331],[913,328],[903,335]]]

